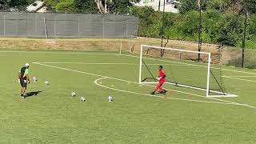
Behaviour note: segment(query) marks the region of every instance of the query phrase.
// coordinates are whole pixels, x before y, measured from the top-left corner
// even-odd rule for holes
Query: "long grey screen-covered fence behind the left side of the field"
[[[135,38],[138,18],[114,14],[0,13],[1,37]]]

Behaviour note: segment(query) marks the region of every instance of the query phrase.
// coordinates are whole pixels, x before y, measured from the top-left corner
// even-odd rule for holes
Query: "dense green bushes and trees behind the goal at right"
[[[250,3],[244,3],[249,2]],[[181,0],[180,14],[166,13],[164,37],[198,41],[198,0]],[[202,41],[241,46],[244,30],[244,10],[248,10],[247,46],[256,46],[256,0],[202,0]],[[246,5],[245,5],[246,4]],[[162,13],[149,7],[133,8],[132,13],[140,18],[138,35],[160,38]],[[256,48],[256,47],[255,47]]]

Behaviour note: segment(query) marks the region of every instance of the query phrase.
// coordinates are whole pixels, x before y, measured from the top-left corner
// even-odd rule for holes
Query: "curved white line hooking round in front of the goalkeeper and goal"
[[[103,86],[101,84],[98,83],[98,81],[102,80],[102,79],[106,79],[105,78],[98,78],[94,81],[94,83],[98,86],[102,86],[106,89],[110,89],[110,90],[117,90],[117,91],[121,91],[121,92],[125,92],[125,93],[130,93],[130,94],[138,94],[138,95],[146,95],[149,97],[156,97],[156,98],[168,98],[168,99],[175,99],[175,100],[182,100],[182,101],[190,101],[190,102],[206,102],[206,103],[216,103],[216,104],[225,104],[225,105],[236,105],[234,103],[229,103],[229,102],[210,102],[210,101],[201,101],[201,100],[194,100],[194,99],[186,99],[186,98],[171,98],[171,97],[164,97],[164,96],[159,96],[159,95],[152,95],[152,94],[142,94],[142,93],[137,93],[137,92],[133,92],[133,91],[128,91],[128,90],[119,90],[119,89],[115,89],[112,87],[108,87],[108,86]]]

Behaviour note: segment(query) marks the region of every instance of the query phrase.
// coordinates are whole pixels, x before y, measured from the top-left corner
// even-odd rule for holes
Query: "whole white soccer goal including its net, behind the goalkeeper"
[[[206,97],[236,97],[226,92],[219,58],[192,50],[141,46],[139,83],[158,83],[158,66],[166,71],[166,83],[206,91]]]

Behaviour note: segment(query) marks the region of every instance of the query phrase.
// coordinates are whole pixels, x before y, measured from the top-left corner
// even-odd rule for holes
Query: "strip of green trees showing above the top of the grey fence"
[[[0,0],[0,10],[26,10],[35,0]],[[129,14],[130,7],[140,0],[44,0],[51,10],[90,14]],[[106,6],[105,6],[106,4]]]

